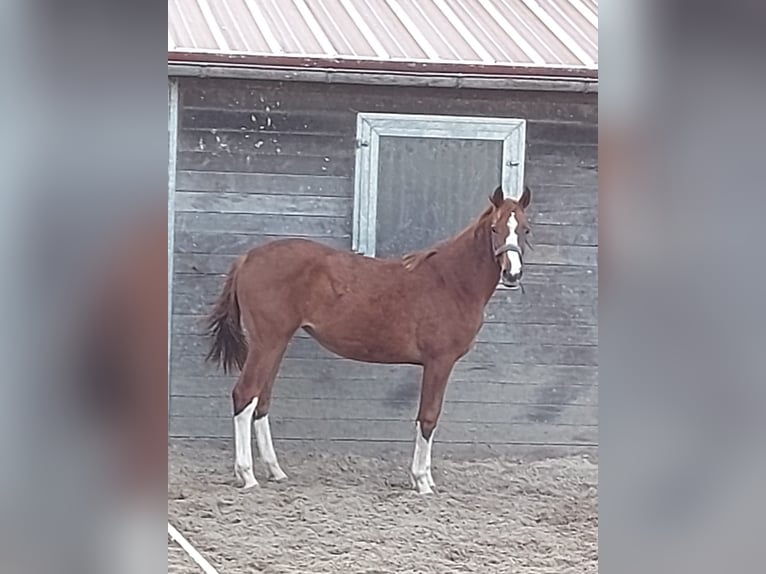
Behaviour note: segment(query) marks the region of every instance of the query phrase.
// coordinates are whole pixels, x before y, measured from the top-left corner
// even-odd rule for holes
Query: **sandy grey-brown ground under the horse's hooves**
[[[583,456],[469,460],[434,449],[438,492],[403,453],[277,444],[288,481],[235,488],[229,445],[173,444],[168,520],[220,574],[598,572],[598,467]],[[200,570],[175,544],[169,574]]]

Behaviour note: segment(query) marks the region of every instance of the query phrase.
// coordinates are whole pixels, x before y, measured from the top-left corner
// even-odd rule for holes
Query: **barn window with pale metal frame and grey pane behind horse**
[[[400,256],[464,228],[524,182],[522,119],[360,113],[353,249]]]

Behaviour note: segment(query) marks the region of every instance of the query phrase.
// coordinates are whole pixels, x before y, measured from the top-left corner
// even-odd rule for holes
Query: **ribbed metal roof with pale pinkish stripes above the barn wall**
[[[595,77],[598,0],[168,0],[168,60]]]

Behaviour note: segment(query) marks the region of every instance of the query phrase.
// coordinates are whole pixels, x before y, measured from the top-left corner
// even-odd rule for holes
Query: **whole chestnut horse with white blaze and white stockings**
[[[274,241],[237,259],[209,319],[207,360],[222,363],[225,372],[241,370],[232,393],[241,485],[257,485],[251,424],[270,477],[286,478],[268,412],[285,348],[303,328],[348,359],[423,366],[410,472],[419,493],[432,492],[431,445],[447,380],[471,349],[498,282],[520,285],[530,200],[529,188],[518,201],[497,188],[470,226],[402,259],[363,257],[304,239]]]

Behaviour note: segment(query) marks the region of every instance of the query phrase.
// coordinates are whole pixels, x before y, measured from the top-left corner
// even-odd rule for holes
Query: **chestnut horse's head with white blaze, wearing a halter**
[[[532,192],[524,186],[518,201],[506,199],[498,187],[489,198],[492,203],[492,249],[500,264],[503,285],[518,289],[524,272],[524,252],[529,245],[529,221],[526,209]]]

